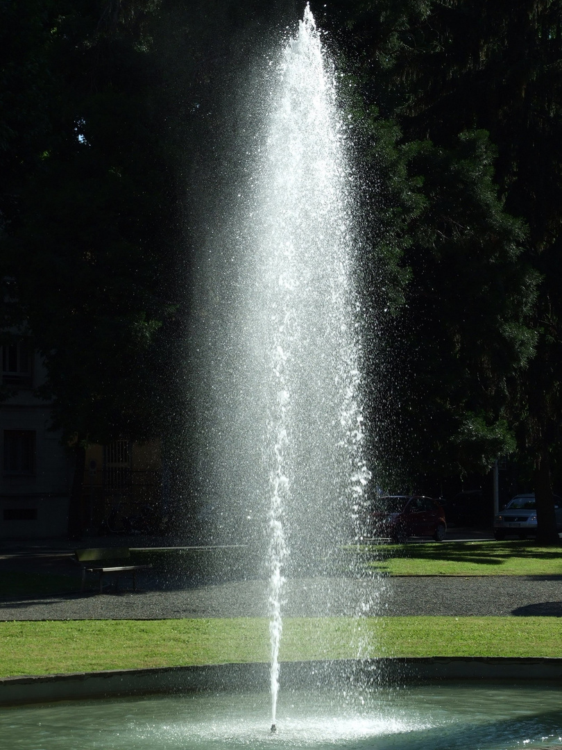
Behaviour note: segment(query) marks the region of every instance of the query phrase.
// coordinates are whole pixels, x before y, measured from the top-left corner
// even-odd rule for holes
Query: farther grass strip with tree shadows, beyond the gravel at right
[[[527,541],[445,541],[364,545],[366,569],[390,575],[562,575],[562,547]]]

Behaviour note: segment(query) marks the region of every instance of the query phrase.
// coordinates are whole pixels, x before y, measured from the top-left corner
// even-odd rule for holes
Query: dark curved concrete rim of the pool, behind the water
[[[359,667],[357,666],[359,664]],[[357,676],[373,684],[424,679],[551,679],[562,681],[562,658],[446,657],[340,661],[285,661],[285,689],[326,684]],[[213,664],[200,667],[107,670],[0,678],[0,706],[158,692],[269,689],[269,664]]]

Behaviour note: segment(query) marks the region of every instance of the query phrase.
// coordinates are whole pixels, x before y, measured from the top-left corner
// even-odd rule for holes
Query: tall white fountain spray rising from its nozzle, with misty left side
[[[285,578],[357,535],[369,471],[348,130],[308,5],[252,80],[231,100],[238,169],[206,229],[191,352],[205,521],[268,559],[275,724]]]

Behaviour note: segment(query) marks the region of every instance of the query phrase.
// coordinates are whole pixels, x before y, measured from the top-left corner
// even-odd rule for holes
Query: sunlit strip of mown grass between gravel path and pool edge
[[[287,618],[280,658],[562,657],[556,617]],[[262,618],[0,622],[0,676],[268,661]]]

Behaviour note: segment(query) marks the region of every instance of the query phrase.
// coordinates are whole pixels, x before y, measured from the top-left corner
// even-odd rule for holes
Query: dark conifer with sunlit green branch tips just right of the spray
[[[417,195],[399,259],[409,280],[394,313],[378,307],[371,373],[383,475],[412,484],[486,470],[513,448],[506,407],[532,353],[522,321],[532,298],[521,294],[532,284],[519,264],[525,226],[498,199],[486,133],[399,153]],[[371,293],[388,299],[380,285]]]

